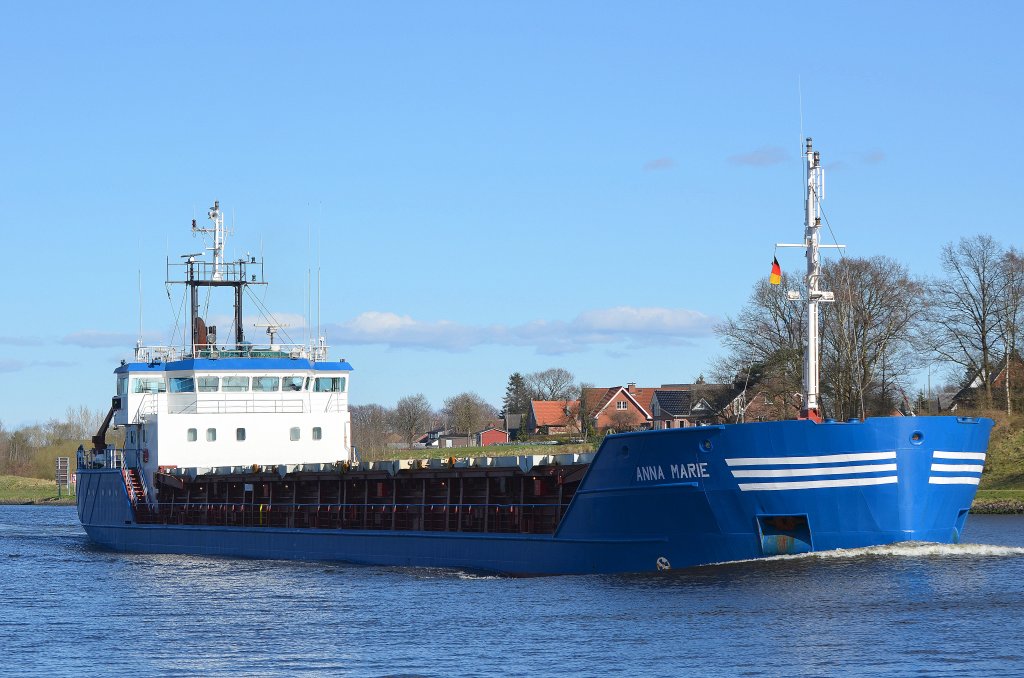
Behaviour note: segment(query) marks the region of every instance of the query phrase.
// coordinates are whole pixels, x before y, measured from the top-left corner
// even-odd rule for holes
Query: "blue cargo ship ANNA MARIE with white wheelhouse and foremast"
[[[607,435],[590,454],[359,460],[352,367],[326,342],[256,345],[243,302],[254,257],[168,263],[186,288],[190,339],[136,346],[79,449],[78,513],[116,551],[452,567],[507,575],[665,571],[905,541],[956,542],[992,422],[819,416],[820,159],[806,150],[808,313],[803,414],[790,421]],[[177,271],[177,272],[176,272]],[[232,336],[200,315],[230,288]],[[110,444],[111,426],[124,442]]]

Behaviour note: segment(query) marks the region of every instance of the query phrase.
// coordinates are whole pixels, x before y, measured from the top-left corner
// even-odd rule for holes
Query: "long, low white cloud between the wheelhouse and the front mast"
[[[570,322],[472,326],[419,321],[388,311],[367,311],[326,327],[334,345],[384,344],[392,348],[465,351],[480,345],[532,346],[541,353],[568,353],[600,344],[647,346],[688,343],[711,334],[717,319],[684,308],[618,306],[581,313]]]

